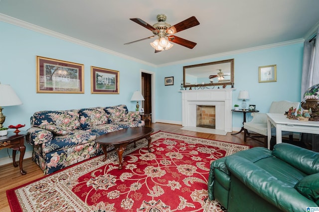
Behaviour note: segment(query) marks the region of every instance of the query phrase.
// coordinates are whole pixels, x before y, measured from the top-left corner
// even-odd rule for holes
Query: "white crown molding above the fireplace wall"
[[[252,51],[276,48],[276,47],[281,47],[281,46],[288,46],[288,45],[293,45],[293,44],[297,44],[297,43],[304,43],[304,42],[305,42],[305,39],[300,38],[300,39],[295,39],[295,40],[290,40],[290,41],[285,41],[285,42],[280,42],[280,43],[274,43],[274,44],[268,44],[268,45],[263,45],[263,46],[256,46],[256,47],[252,47],[252,48],[247,48],[247,49],[240,49],[240,50],[235,50],[235,51],[212,54],[212,55],[207,55],[207,56],[203,56],[203,57],[191,58],[188,60],[175,61],[172,63],[165,63],[162,65],[159,65],[158,67],[178,65],[181,63],[189,63],[189,62],[205,60],[205,59],[210,59],[210,58],[215,58],[215,57],[230,56],[230,55],[235,55],[235,54],[241,54],[241,53],[247,53],[247,52],[252,52]]]

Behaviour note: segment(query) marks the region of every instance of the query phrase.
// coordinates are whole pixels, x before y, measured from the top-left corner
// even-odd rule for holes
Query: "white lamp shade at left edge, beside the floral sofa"
[[[17,106],[22,102],[10,85],[0,84],[0,106]]]

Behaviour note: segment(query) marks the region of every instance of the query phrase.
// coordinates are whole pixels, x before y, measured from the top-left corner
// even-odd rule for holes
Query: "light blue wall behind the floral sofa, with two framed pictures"
[[[37,94],[36,55],[84,64],[84,94]],[[90,66],[120,71],[120,94],[91,94]],[[38,110],[63,110],[93,106],[125,104],[135,110],[131,102],[134,91],[140,90],[141,69],[155,72],[156,68],[105,52],[83,47],[48,35],[0,22],[0,82],[9,84],[22,101],[20,106],[7,106],[4,126],[26,124]],[[31,146],[27,145],[27,151]],[[11,151],[10,155],[11,155]],[[7,157],[6,149],[0,158]]]

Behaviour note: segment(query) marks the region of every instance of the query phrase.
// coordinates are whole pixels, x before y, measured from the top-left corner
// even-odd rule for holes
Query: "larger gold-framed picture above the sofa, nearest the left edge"
[[[84,93],[84,65],[36,56],[36,93]]]

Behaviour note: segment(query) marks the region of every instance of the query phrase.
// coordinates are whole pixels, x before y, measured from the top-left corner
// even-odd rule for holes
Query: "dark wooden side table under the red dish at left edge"
[[[12,149],[12,160],[13,166],[17,167],[18,165],[15,162],[16,150],[20,151],[19,158],[19,167],[21,175],[25,175],[26,172],[22,169],[22,162],[25,153],[24,146],[24,137],[28,134],[27,131],[20,131],[18,134],[15,134],[13,131],[8,131],[7,135],[0,136],[0,149],[11,148]]]

